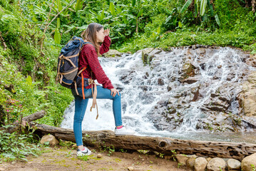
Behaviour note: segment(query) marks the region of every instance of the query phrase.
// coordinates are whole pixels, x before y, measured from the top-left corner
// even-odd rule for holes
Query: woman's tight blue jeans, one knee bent
[[[73,118],[73,133],[75,134],[76,145],[83,145],[82,140],[82,121],[86,113],[86,107],[88,104],[88,98],[92,98],[91,88],[84,88],[85,99],[83,99],[82,88],[77,88],[79,95],[76,94],[76,89],[71,89],[73,96],[75,97],[75,115]],[[111,90],[97,86],[97,98],[99,99],[111,99],[113,100],[113,113],[116,126],[122,125],[121,118],[121,93],[116,94],[115,97],[111,95]]]

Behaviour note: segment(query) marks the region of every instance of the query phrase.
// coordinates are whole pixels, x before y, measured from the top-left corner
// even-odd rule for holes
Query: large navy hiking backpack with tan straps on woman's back
[[[89,42],[84,42],[83,38],[74,36],[66,45],[61,48],[61,53],[58,56],[58,71],[56,81],[66,88],[73,88],[76,83],[77,76],[83,72],[78,72],[78,57],[83,45]],[[75,85],[76,86],[76,85]]]

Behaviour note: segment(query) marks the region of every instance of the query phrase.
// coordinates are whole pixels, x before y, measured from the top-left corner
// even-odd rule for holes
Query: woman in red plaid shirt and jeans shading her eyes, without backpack
[[[111,38],[108,36],[109,31],[109,29],[104,30],[101,24],[92,23],[88,25],[86,31],[82,33],[84,41],[88,43],[83,46],[79,55],[78,70],[81,71],[83,68],[86,68],[81,73],[83,74],[83,78],[91,78],[102,84],[102,86],[97,86],[98,93],[96,98],[113,100],[113,114],[116,123],[115,134],[132,135],[133,132],[127,130],[122,123],[121,93],[113,87],[98,61],[98,56],[106,53],[109,50],[109,46],[111,46]],[[99,43],[102,43],[102,45],[100,46]],[[73,96],[75,97],[73,131],[76,138],[76,145],[78,146],[78,156],[91,154],[91,150],[83,146],[81,127],[83,117],[86,113],[88,98],[92,98],[91,86],[86,85],[85,88],[77,88],[78,95],[76,89],[72,89]]]

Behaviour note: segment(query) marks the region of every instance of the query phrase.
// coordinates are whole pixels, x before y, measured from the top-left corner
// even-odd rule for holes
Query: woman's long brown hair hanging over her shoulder
[[[103,26],[101,24],[91,23],[88,25],[86,30],[81,33],[81,37],[84,40],[93,43],[93,46],[95,47],[98,56],[100,55],[100,44],[97,42],[96,31],[100,31],[102,28]]]

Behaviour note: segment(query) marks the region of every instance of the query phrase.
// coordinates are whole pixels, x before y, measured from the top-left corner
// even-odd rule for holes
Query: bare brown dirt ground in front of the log
[[[156,155],[144,155],[140,152],[109,152],[92,150],[88,160],[76,157],[76,150],[68,147],[51,147],[44,150],[39,157],[29,157],[28,162],[4,162],[0,164],[0,171],[73,171],[73,170],[128,170],[133,167],[134,171],[186,171],[178,166],[178,162],[160,158]],[[111,153],[111,155],[110,155]],[[101,154],[101,158],[97,155]]]

